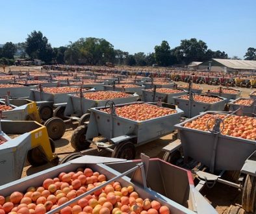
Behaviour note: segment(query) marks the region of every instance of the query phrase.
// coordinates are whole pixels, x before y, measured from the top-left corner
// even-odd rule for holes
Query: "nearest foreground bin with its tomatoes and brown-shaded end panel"
[[[57,183],[53,184],[53,181],[64,181],[69,173],[80,175],[79,178],[85,177],[87,180],[94,178],[97,182],[94,183],[95,185],[86,184],[84,181],[79,182],[79,179],[73,178],[72,184],[77,183],[78,185],[74,185],[72,191],[77,194],[70,197],[71,193],[68,193],[68,200],[65,196],[61,199],[58,195],[58,197],[56,196],[58,202],[49,203],[50,206],[34,206],[34,210],[42,209],[42,213],[47,212],[48,214],[64,213],[65,210],[72,211],[72,209],[103,213],[106,208],[109,209],[107,213],[112,213],[114,208],[120,213],[121,210],[127,213],[133,210],[137,213],[142,210],[147,210],[149,213],[162,213],[164,211],[164,213],[173,214],[217,213],[194,187],[190,172],[157,158],[149,159],[144,155],[142,155],[142,160],[136,161],[83,156],[0,186],[1,198],[10,195],[12,201],[16,202],[17,198],[14,199],[14,195],[17,195],[17,201],[20,204],[21,200],[22,202],[25,200],[23,199],[25,197],[19,197],[21,193],[29,195],[26,192],[32,187],[39,187],[40,189],[55,187]],[[155,176],[156,174],[159,176]],[[51,195],[54,195],[58,189],[60,187],[51,189]],[[100,194],[101,196],[99,196]],[[51,195],[47,198],[55,198]],[[94,195],[97,196],[96,198],[106,195],[106,200],[105,198],[103,198],[104,200],[96,200]],[[118,201],[120,197],[122,200]],[[82,198],[86,198],[86,200]],[[74,206],[74,204],[77,205]],[[8,206],[4,206],[4,208],[10,209]]]

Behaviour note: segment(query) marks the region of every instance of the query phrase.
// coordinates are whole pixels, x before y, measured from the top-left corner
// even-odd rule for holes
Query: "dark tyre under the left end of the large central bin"
[[[87,126],[78,126],[72,136],[71,136],[71,146],[78,151],[88,149],[90,147],[90,143],[86,141],[85,135],[87,131]]]

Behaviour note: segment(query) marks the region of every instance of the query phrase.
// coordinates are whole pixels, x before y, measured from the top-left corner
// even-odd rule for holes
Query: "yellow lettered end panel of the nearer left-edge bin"
[[[40,125],[40,128],[32,130],[31,133],[31,149],[34,147],[41,147],[44,152],[47,160],[51,161],[56,158],[56,155],[51,151],[51,143],[49,141],[47,129],[45,126],[41,125],[38,122],[35,122]]]

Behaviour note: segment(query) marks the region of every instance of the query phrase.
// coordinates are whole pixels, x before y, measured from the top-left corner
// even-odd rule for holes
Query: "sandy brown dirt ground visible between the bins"
[[[41,67],[10,67],[12,70],[21,70],[27,71],[28,68],[30,71],[40,71]],[[1,69],[0,69],[1,71]],[[6,67],[5,71],[8,71],[8,67]],[[184,82],[178,82],[177,84],[184,84]],[[218,86],[209,86],[207,84],[202,84],[201,87],[203,91],[207,91],[208,89],[217,88]],[[242,89],[242,97],[249,97],[249,94],[253,89],[248,88],[237,88]],[[70,145],[70,138],[73,133],[73,130],[77,127],[74,124],[66,125],[66,132],[62,139],[55,141],[56,145],[56,153],[60,158],[63,158],[68,153],[73,152],[74,149]],[[140,153],[144,153],[150,157],[158,157],[162,158],[164,152],[162,152],[162,147],[168,145],[168,143],[172,142],[172,134],[168,136],[161,137],[151,143],[147,143],[146,145],[142,145],[137,147],[136,149],[136,158],[140,158]],[[41,167],[31,167],[29,165],[25,166],[23,169],[22,176],[28,176],[35,172],[42,171],[49,167],[53,167],[51,164],[46,164]],[[218,213],[226,213],[227,209],[231,204],[240,204],[241,201],[241,192],[233,187],[229,187],[223,184],[216,184],[212,189],[204,189],[202,194],[211,202],[212,206],[216,208]]]

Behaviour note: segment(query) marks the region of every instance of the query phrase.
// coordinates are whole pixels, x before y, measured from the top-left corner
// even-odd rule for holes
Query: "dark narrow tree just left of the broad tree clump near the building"
[[[162,66],[171,64],[171,49],[167,41],[155,46],[155,62]]]

